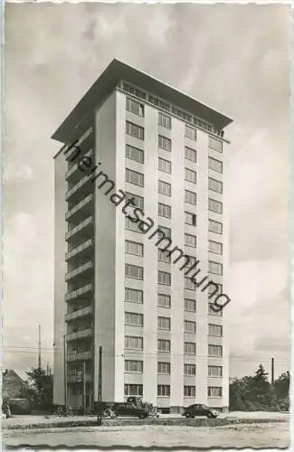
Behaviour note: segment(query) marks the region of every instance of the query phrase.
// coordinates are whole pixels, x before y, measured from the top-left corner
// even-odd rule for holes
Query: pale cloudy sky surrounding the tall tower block
[[[5,5],[4,366],[52,363],[52,132],[113,58],[234,119],[232,375],[289,367],[289,6]]]

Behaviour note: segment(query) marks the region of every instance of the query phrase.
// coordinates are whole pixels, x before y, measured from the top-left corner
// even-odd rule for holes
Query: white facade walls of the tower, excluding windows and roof
[[[100,177],[97,177],[95,184],[92,184],[94,194],[92,237],[94,270],[90,278],[93,279],[95,287],[89,298],[92,317],[91,320],[90,317],[87,317],[87,325],[86,323],[82,324],[86,321],[81,321],[81,318],[67,321],[68,333],[71,323],[74,322],[77,325],[79,324],[76,327],[78,332],[86,327],[92,328],[90,360],[92,360],[93,366],[91,367],[90,363],[87,364],[87,366],[89,365],[89,372],[92,372],[89,373],[89,379],[92,379],[92,381],[89,383],[89,389],[86,390],[89,396],[87,404],[92,405],[93,401],[98,400],[98,355],[99,345],[102,345],[103,400],[121,401],[128,395],[139,395],[158,408],[175,411],[192,403],[205,403],[214,408],[226,409],[229,405],[229,349],[227,327],[224,323],[225,308],[223,315],[209,314],[208,291],[202,292],[200,288],[196,291],[186,288],[184,276],[186,269],[183,271],[179,269],[180,262],[173,264],[172,262],[158,261],[158,248],[156,246],[158,237],[157,239],[156,237],[149,239],[158,225],[159,227],[169,228],[173,241],[171,249],[176,246],[183,250],[186,255],[196,257],[200,261],[197,268],[201,268],[201,273],[196,279],[199,281],[207,276],[217,284],[225,284],[229,256],[227,209],[225,200],[223,200],[225,187],[223,193],[209,189],[209,184],[217,185],[212,181],[209,182],[209,178],[223,183],[223,173],[210,169],[208,163],[209,157],[212,157],[223,163],[223,171],[225,171],[223,162],[225,142],[211,133],[210,136],[221,143],[220,146],[223,146],[223,152],[214,150],[210,146],[212,138],[209,138],[209,134],[199,127],[193,127],[193,125],[190,125],[190,127],[196,129],[196,140],[185,137],[187,123],[182,118],[177,118],[174,114],[162,111],[147,101],[129,95],[121,89],[122,86],[122,83],[120,83],[107,99],[104,99],[100,107],[95,109],[91,123],[93,127],[91,141],[93,155],[96,165],[101,164],[95,174],[98,174],[101,170],[115,184],[109,194],[105,194],[107,185],[100,188]],[[144,86],[140,89],[144,89]],[[144,115],[129,111],[127,99],[133,99],[141,104],[144,108]],[[169,99],[164,100],[169,101]],[[141,110],[139,112],[141,113]],[[159,125],[159,112],[170,118],[170,128]],[[144,128],[144,140],[127,133],[127,121]],[[171,151],[158,146],[158,136],[171,140]],[[144,163],[126,156],[126,146],[128,145],[144,152]],[[196,151],[196,162],[185,158],[186,146]],[[83,151],[87,153],[86,146]],[[158,169],[158,157],[170,162],[172,168],[170,174]],[[56,229],[55,239],[55,344],[57,345],[54,369],[54,402],[63,404],[62,363],[64,363],[64,360],[61,347],[66,326],[62,319],[65,313],[69,312],[66,310],[67,303],[64,302],[66,290],[63,282],[65,265],[64,260],[62,260],[64,259],[62,257],[64,256],[62,236],[66,230],[64,229],[64,221],[61,220],[67,207],[63,200],[59,201],[62,198],[61,193],[66,191],[62,176],[59,175],[63,172],[65,179],[64,158],[57,156],[55,165],[58,175],[56,179],[58,184],[55,187],[57,194],[56,225],[58,228]],[[216,163],[215,165],[220,164]],[[196,172],[196,184],[186,180],[186,169]],[[127,182],[127,170],[144,174],[144,186]],[[81,174],[82,176],[84,174]],[[158,181],[171,185],[170,196],[158,193]],[[155,226],[146,234],[130,231],[126,228],[126,214],[122,212],[125,202],[121,202],[116,207],[109,200],[111,194],[118,193],[119,190],[144,198],[145,218],[149,217],[155,223]],[[185,202],[185,191],[196,193],[195,205]],[[86,195],[87,192],[85,191]],[[209,210],[209,198],[223,203],[222,214]],[[170,219],[158,216],[158,203],[171,208]],[[129,212],[131,211],[128,210],[128,214]],[[185,212],[196,215],[196,225],[185,223]],[[223,224],[223,234],[209,231],[210,220]],[[81,216],[81,219],[79,217],[77,221],[83,221],[83,217]],[[76,226],[76,223],[72,226]],[[185,234],[196,237],[196,248],[185,245]],[[144,255],[137,256],[126,253],[126,240],[143,245]],[[209,240],[216,243],[209,244]],[[223,245],[223,254],[209,252],[209,246],[213,250],[218,250],[220,243]],[[139,248],[142,249],[142,247]],[[209,264],[209,261],[212,263]],[[143,278],[128,278],[125,274],[126,264],[144,268]],[[219,268],[217,264],[223,265],[223,275],[215,275],[209,272],[209,269]],[[69,265],[71,265],[71,261]],[[76,267],[77,265],[73,262],[71,268]],[[158,284],[158,271],[170,274],[170,285]],[[61,276],[62,272],[63,275]],[[76,283],[73,283],[75,285],[72,286],[74,288],[80,284],[78,279],[76,281]],[[83,282],[85,281],[86,279]],[[205,283],[202,287],[204,286]],[[126,301],[126,287],[142,291],[143,303]],[[224,285],[223,294],[225,293]],[[169,307],[158,306],[158,294],[170,297],[171,304]],[[196,312],[185,310],[185,299],[196,302]],[[213,298],[211,301],[213,302]],[[77,303],[76,306],[83,309],[88,306],[85,304],[87,302],[84,299],[81,302],[80,298],[77,298],[74,303]],[[80,306],[80,303],[84,304]],[[75,309],[79,310],[78,307],[75,307]],[[128,318],[135,318],[136,314],[143,315],[143,325],[125,325],[127,318],[125,313],[129,313]],[[132,315],[135,315],[135,317],[132,317]],[[158,317],[164,317],[164,319],[158,320]],[[165,320],[165,318],[170,320]],[[170,329],[158,329],[158,322],[165,325],[170,324],[168,325]],[[190,322],[190,324],[185,324],[185,322]],[[192,328],[193,323],[195,323],[195,332],[185,332],[185,325],[190,325]],[[210,335],[212,331],[219,332],[220,330],[216,326],[209,325],[222,325],[222,336]],[[128,343],[125,342],[126,336],[143,338],[143,349],[126,348],[125,345],[131,343],[131,340],[128,340]],[[74,344],[79,343],[78,337],[74,340],[76,341]],[[169,353],[158,352],[158,340],[170,341]],[[195,354],[185,353],[185,343],[195,344]],[[222,356],[208,355],[209,345],[213,344],[223,347]],[[68,344],[68,347],[70,345]],[[74,345],[74,347],[77,347],[77,345]],[[191,347],[193,348],[193,345]],[[75,353],[79,355],[79,351]],[[76,361],[77,366],[80,361],[82,363],[82,359],[80,361],[79,359],[72,359]],[[140,367],[141,363],[126,364],[126,361],[143,362],[143,368]],[[169,363],[170,372],[158,373],[158,365],[161,370],[166,369],[168,371],[168,364],[158,363]],[[195,365],[195,375],[185,374],[184,369],[187,369],[185,364]],[[69,363],[67,365],[71,366]],[[135,369],[137,372],[134,372],[132,366],[138,366]],[[209,366],[213,366],[213,368],[209,368]],[[220,372],[217,367],[222,367],[222,376],[216,376]],[[132,369],[133,372],[129,372]],[[192,366],[189,369],[192,369]],[[210,376],[209,372],[213,373],[213,376]],[[76,386],[76,388],[72,389],[73,386]],[[83,400],[85,400],[83,395],[85,394],[81,393],[81,381],[75,381],[73,386],[68,384],[67,397],[68,404],[75,408],[82,405]],[[209,387],[212,389],[208,389]],[[222,392],[218,388],[222,388],[220,390]]]

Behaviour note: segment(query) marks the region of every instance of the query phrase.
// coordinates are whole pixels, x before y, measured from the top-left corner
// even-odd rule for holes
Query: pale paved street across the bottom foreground
[[[3,441],[8,447],[289,447],[289,423],[5,430]]]

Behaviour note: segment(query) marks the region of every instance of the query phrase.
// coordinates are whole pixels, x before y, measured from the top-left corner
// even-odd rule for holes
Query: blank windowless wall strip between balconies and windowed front
[[[95,115],[96,174],[104,171],[116,181],[116,94],[107,99]],[[99,346],[102,346],[102,398],[115,396],[115,305],[116,305],[116,208],[95,181],[95,333],[94,401],[98,400]]]

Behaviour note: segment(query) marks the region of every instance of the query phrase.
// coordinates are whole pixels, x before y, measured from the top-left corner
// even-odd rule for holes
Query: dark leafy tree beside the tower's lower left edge
[[[29,384],[35,392],[36,402],[40,409],[52,408],[53,403],[53,379],[52,375],[39,367],[26,372]]]

